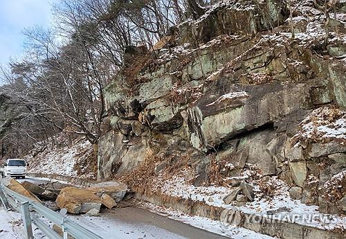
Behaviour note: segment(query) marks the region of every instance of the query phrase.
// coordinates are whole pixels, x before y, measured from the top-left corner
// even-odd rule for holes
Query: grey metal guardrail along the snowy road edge
[[[66,212],[63,215],[56,213],[39,202],[34,202],[30,198],[16,193],[2,184],[0,184],[0,200],[6,210],[12,206],[13,209],[21,213],[27,239],[34,238],[32,224],[35,224],[49,239],[67,239],[69,235],[75,239],[102,239],[92,231],[66,218]],[[39,219],[42,216],[57,224],[62,229],[64,236],[60,236],[48,224]]]

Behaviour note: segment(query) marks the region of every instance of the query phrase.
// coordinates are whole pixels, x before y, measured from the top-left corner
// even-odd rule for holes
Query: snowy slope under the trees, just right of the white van
[[[48,175],[64,175],[78,177],[78,168],[84,172],[89,166],[81,165],[93,153],[91,143],[86,140],[80,140],[73,145],[66,145],[64,148],[53,148],[43,150],[34,156],[34,152],[26,155],[24,159],[29,162],[29,173],[44,173]],[[93,173],[82,174],[82,177],[94,177]]]

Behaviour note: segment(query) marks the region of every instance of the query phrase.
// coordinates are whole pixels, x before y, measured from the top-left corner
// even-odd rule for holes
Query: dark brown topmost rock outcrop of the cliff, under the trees
[[[282,24],[287,17],[288,9],[284,1],[242,0],[231,4],[221,2],[208,10],[198,21],[181,26],[180,41],[182,44],[190,39],[199,39],[200,42],[206,43],[224,34],[255,35]]]

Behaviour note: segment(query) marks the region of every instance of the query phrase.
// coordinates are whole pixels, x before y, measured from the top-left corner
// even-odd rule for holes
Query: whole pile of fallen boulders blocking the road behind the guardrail
[[[11,177],[6,177],[2,183],[12,191],[29,197],[35,202],[55,200],[59,209],[66,209],[73,214],[98,215],[102,206],[112,209],[127,193],[127,185],[117,181],[101,182],[87,188],[60,183],[37,185],[28,181],[20,184]]]

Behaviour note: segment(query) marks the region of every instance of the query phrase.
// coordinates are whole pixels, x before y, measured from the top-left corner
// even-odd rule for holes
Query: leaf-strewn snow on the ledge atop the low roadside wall
[[[246,179],[246,175],[237,177]],[[231,178],[228,178],[231,179]],[[173,197],[182,197],[199,202],[205,202],[211,206],[218,206],[224,209],[235,209],[244,213],[266,216],[277,216],[282,220],[298,224],[318,227],[320,229],[346,229],[346,217],[320,213],[318,206],[307,206],[300,200],[292,200],[289,195],[289,186],[282,180],[273,177],[271,182],[275,184],[275,195],[271,198],[262,197],[260,188],[253,184],[255,191],[255,201],[247,202],[244,206],[225,204],[224,197],[230,193],[231,188],[223,186],[193,186],[185,182],[184,177],[175,177],[164,182],[163,186],[158,186],[162,193]],[[159,185],[159,184],[158,184]]]

